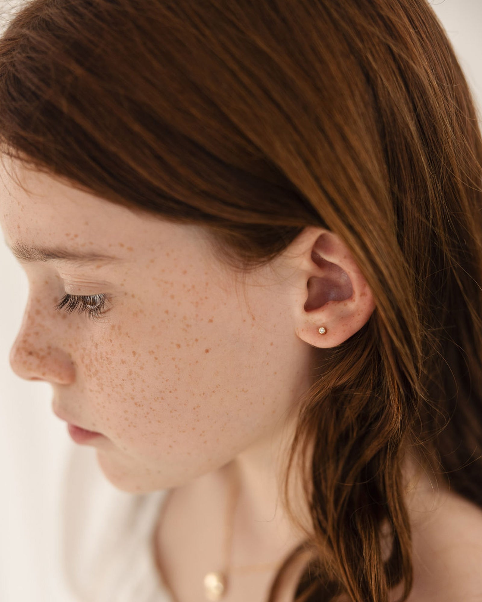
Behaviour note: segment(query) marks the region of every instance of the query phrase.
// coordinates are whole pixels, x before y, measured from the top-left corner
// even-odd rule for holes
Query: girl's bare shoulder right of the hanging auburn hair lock
[[[482,509],[451,491],[413,519],[407,602],[482,600]]]

